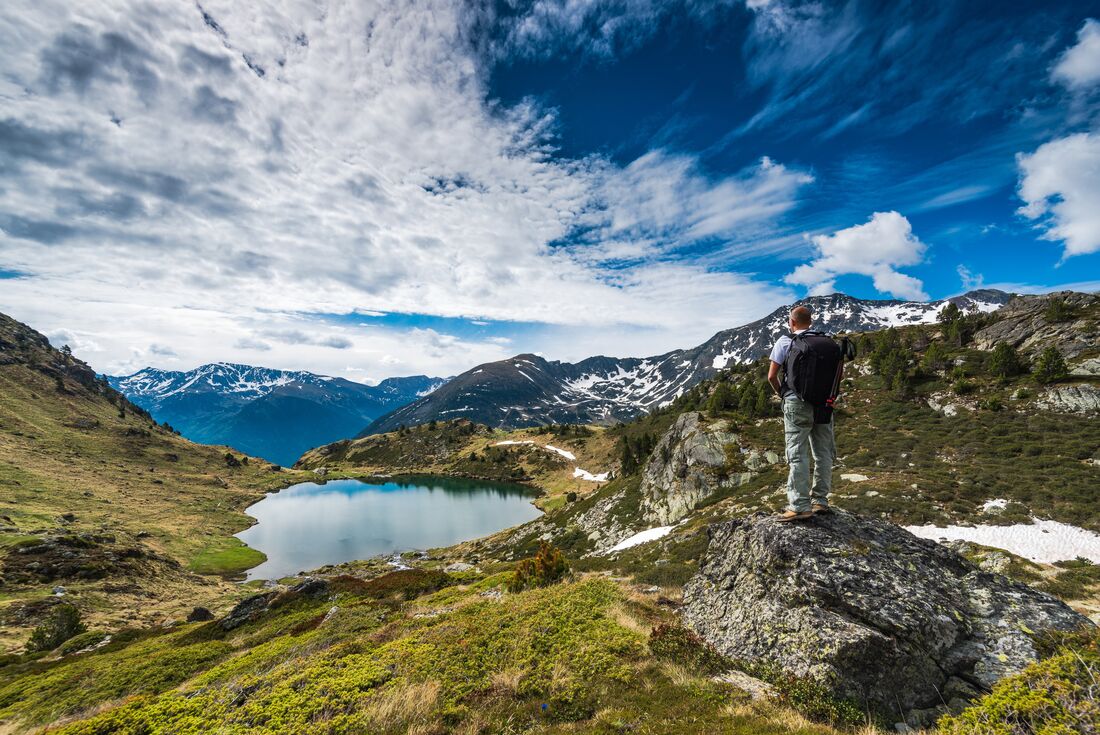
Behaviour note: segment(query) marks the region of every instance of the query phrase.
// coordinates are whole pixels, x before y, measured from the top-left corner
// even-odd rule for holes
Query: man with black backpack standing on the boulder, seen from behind
[[[784,334],[776,341],[768,370],[768,382],[783,402],[787,461],[791,465],[787,479],[787,509],[779,516],[783,522],[827,513],[833,485],[836,441],[831,398],[834,386],[839,385],[844,361],[840,348],[832,338],[810,329],[811,318],[805,306],[791,309],[791,336]],[[814,458],[812,486],[811,453]]]

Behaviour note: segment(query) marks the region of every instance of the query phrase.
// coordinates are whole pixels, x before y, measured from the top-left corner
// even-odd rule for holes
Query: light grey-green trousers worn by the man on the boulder
[[[795,395],[783,399],[783,431],[787,435],[787,509],[804,513],[811,503],[828,505],[833,489],[833,461],[836,439],[833,424],[814,424],[814,407]],[[813,485],[810,484],[810,456],[814,458]]]

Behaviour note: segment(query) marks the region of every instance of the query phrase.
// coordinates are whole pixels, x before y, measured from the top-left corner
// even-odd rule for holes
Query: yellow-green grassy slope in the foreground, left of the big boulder
[[[408,603],[352,585],[228,634],[187,625],[8,667],[0,720],[67,720],[52,732],[72,734],[836,732],[656,659],[648,633],[668,613],[615,582],[482,594],[502,582]]]

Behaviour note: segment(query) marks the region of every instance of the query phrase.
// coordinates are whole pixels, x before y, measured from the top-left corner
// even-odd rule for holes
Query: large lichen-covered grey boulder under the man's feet
[[[1036,658],[1033,635],[1091,623],[893,524],[848,513],[710,529],[685,623],[733,659],[931,723]]]

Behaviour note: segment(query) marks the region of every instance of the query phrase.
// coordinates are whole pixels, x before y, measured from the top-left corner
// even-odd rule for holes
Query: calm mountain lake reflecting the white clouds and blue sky
[[[237,537],[267,555],[248,578],[278,579],[487,536],[538,517],[534,497],[521,485],[459,478],[305,482],[250,506],[257,523]]]

